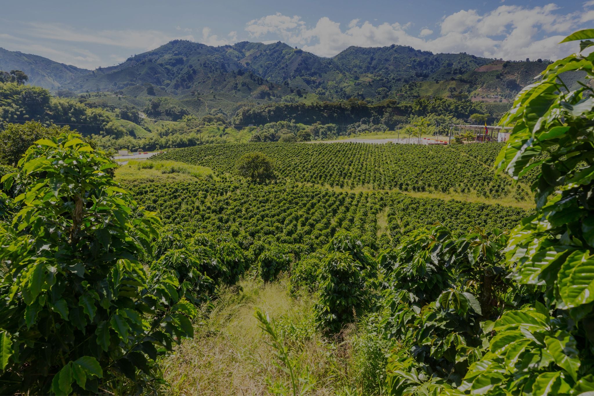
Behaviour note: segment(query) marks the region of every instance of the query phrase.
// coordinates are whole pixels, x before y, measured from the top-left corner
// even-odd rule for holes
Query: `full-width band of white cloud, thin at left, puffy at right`
[[[336,55],[349,46],[397,44],[434,53],[467,52],[489,58],[557,59],[578,50],[577,43],[559,45],[558,42],[594,21],[594,0],[582,4],[583,9],[577,12],[564,12],[563,8],[552,3],[539,7],[499,4],[484,13],[476,9],[461,9],[436,21],[437,29],[425,26],[418,34],[408,30],[413,25],[410,21],[378,23],[357,18],[340,24],[329,17],[322,17],[309,24],[299,15],[277,12],[249,21],[245,31],[239,34],[237,31],[215,34],[210,27],[200,27],[194,29],[196,36],[192,34],[192,28],[183,26],[164,32],[150,29],[92,30],[61,23],[17,22],[22,28],[4,29],[0,33],[0,42],[12,50],[35,53],[84,68],[121,62],[134,52],[151,50],[173,39],[200,40],[207,45],[220,46],[233,44],[245,36],[265,43],[282,40],[321,56]],[[90,47],[93,52],[79,47]]]

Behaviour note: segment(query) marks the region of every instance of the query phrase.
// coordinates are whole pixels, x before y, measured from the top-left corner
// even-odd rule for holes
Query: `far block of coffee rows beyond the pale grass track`
[[[261,152],[275,161],[279,176],[296,182],[340,188],[359,185],[400,191],[458,192],[500,198],[527,195],[521,185],[492,170],[500,143],[452,145],[362,143],[248,143],[203,145],[169,150],[152,157],[233,172],[245,153]]]

